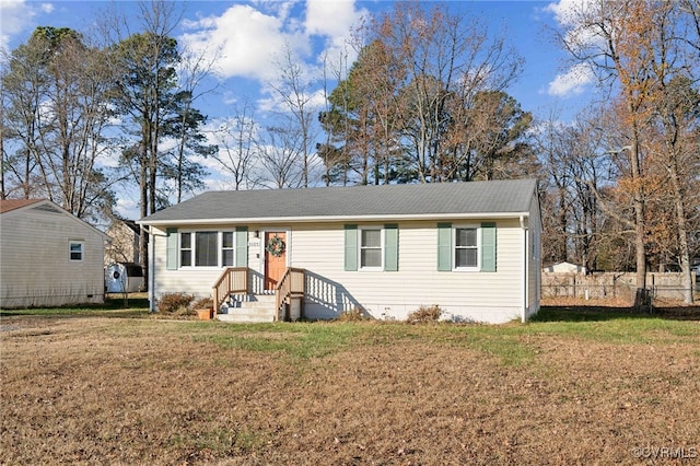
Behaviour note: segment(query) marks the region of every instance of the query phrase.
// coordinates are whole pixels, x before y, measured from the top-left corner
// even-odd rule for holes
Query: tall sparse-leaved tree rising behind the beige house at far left
[[[3,152],[14,152],[3,153],[3,165],[24,197],[45,196],[80,218],[101,218],[112,198],[96,166],[110,117],[105,53],[73,30],[38,27],[11,54],[2,81],[3,141],[10,141]]]

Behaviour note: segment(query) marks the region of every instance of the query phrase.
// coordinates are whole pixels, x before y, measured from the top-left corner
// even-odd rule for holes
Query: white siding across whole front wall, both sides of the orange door
[[[450,222],[450,220],[447,220]],[[488,223],[490,222],[490,223]],[[360,272],[360,232],[388,226],[381,222],[298,223],[285,226],[290,267],[307,270],[305,316],[332,318],[343,311],[361,307],[375,318],[404,319],[421,305],[438,304],[445,317],[457,321],[500,323],[518,318],[523,306],[524,230],[517,219],[492,221],[488,218],[465,222],[455,219],[451,225],[491,225],[498,244],[498,270],[460,273],[438,271],[438,234],[435,221],[402,221],[392,225],[396,240],[399,267],[395,271],[362,270]],[[353,228],[354,226],[354,228]],[[250,224],[250,231],[264,231],[266,225]],[[198,230],[197,226],[191,226]],[[202,229],[203,230],[203,229]],[[357,268],[348,269],[347,237],[354,236]],[[220,269],[166,270],[166,238],[151,236],[154,243],[154,280],[158,293],[211,293]],[[259,238],[248,236],[248,267],[253,289],[259,289],[258,276],[264,275],[264,254]],[[385,249],[387,246],[384,245]],[[387,266],[387,259],[384,259]],[[350,264],[352,265],[352,264]]]

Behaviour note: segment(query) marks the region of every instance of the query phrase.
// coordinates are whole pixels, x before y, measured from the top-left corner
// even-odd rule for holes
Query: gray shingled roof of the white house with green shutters
[[[535,179],[209,191],[153,213],[141,223],[503,217],[527,213],[535,191]]]

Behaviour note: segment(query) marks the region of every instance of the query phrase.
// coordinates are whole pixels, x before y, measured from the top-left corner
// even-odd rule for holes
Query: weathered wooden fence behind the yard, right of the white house
[[[693,283],[696,276],[693,273]],[[686,289],[682,275],[652,272],[646,275],[646,288],[655,298],[682,300]],[[542,298],[629,299],[637,290],[634,272],[561,273],[542,272]]]

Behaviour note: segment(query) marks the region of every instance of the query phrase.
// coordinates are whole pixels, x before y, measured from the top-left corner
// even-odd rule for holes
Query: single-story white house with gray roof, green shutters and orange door
[[[152,307],[186,292],[229,314],[272,293],[269,319],[293,316],[294,302],[311,319],[404,319],[438,304],[453,321],[503,323],[539,308],[532,179],[212,191],[140,223]]]

